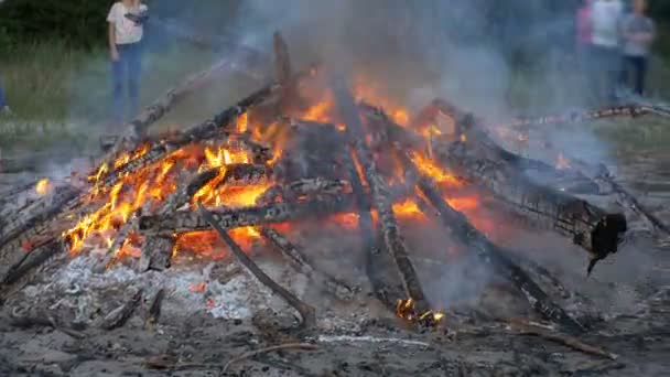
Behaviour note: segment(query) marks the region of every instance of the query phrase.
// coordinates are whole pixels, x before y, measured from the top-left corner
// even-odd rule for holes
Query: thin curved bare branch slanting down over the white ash
[[[307,305],[302,302],[298,297],[293,295],[293,293],[289,292],[287,289],[278,284],[270,278],[263,270],[261,270],[255,262],[245,254],[245,251],[233,240],[233,238],[226,233],[224,227],[219,225],[216,217],[209,213],[205,206],[201,202],[197,203],[198,212],[201,216],[205,218],[205,220],[212,226],[216,233],[221,237],[221,239],[228,245],[230,248],[230,252],[235,255],[237,261],[244,265],[249,272],[251,272],[258,281],[260,281],[263,286],[268,287],[274,294],[280,295],[291,306],[293,306],[302,316],[302,326],[306,328],[312,328],[316,325],[316,314],[314,308]]]

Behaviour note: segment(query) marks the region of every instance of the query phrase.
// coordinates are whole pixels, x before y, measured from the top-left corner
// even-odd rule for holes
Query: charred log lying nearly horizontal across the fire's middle
[[[304,202],[282,202],[213,212],[213,216],[225,229],[250,225],[267,225],[287,220],[326,216],[355,208],[353,195],[325,196]],[[207,222],[193,212],[177,212],[168,215],[142,216],[140,231],[147,235],[171,235],[209,229]]]

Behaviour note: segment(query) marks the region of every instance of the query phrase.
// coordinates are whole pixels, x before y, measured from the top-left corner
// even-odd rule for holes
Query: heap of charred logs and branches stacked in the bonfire
[[[434,100],[415,121],[404,127],[393,122],[383,109],[356,103],[346,79],[339,76],[329,79],[324,88],[333,94],[335,101],[332,123],[300,119],[300,114],[296,115],[294,109],[309,104],[309,98],[304,98],[300,91],[301,83],[314,79],[323,67],[313,65],[295,74],[291,72],[288,49],[280,34],[274,35],[274,46],[277,83],[183,132],[161,138],[139,138],[152,122],[184,95],[204,85],[225,63],[190,77],[129,125],[132,132],[121,138],[102,157],[93,174],[93,184],[58,184],[21,214],[11,214],[4,219],[0,231],[0,266],[3,266],[0,270],[0,295],[4,298],[11,294],[54,257],[66,254],[67,240],[63,240],[61,235],[82,215],[95,209],[95,201],[90,201],[93,193],[109,190],[128,174],[164,161],[188,146],[235,143],[236,148],[249,152],[252,161],[226,165],[223,176],[218,168],[198,172],[186,170],[175,180],[175,191],[161,203],[158,211],[147,209],[149,206],[138,209],[117,229],[117,239],[104,267],[114,262],[115,249],[120,247],[129,231],[137,231],[143,238],[138,268],[164,270],[171,265],[175,234],[215,229],[238,261],[293,305],[301,314],[303,324],[311,326],[316,309],[273,282],[242,252],[241,246],[228,231],[245,226],[257,227],[268,245],[280,251],[296,271],[317,281],[337,299],[350,300],[357,293],[355,288],[320,270],[309,252],[291,243],[272,225],[355,212],[358,214],[357,226],[367,263],[378,263],[379,254],[375,250],[383,250],[393,260],[395,272],[401,280],[398,281],[402,287],[399,291],[379,287],[383,282],[375,281],[370,276],[378,298],[391,310],[399,302],[411,299],[412,313],[403,313],[402,316],[432,324],[439,316],[434,315],[435,308],[423,291],[412,263],[412,250],[404,241],[392,208],[395,203],[410,198],[419,204],[429,218],[437,219],[446,227],[454,241],[475,252],[484,263],[516,287],[527,298],[529,305],[545,320],[570,332],[582,330],[582,325],[553,302],[518,265],[518,259],[512,258],[508,249],[496,246],[445,201],[444,192],[419,169],[411,153],[424,153],[428,146],[429,158],[453,172],[465,184],[489,194],[497,204],[526,219],[530,226],[564,237],[566,245],[577,245],[591,257],[588,271],[595,261],[617,251],[627,230],[623,214],[607,212],[568,192],[529,179],[529,169],[550,175],[564,175],[564,172],[505,150],[486,132],[479,119],[442,99]],[[277,119],[275,125],[282,127],[284,133],[291,134],[291,148],[273,143],[272,140],[260,140],[252,137],[253,132],[239,133],[234,130],[233,125],[240,116],[256,110],[272,112],[262,117]],[[454,126],[450,134],[425,138],[418,132],[415,125],[431,121],[430,118],[437,114],[447,117]],[[335,127],[335,123],[344,127]],[[143,153],[125,163],[115,163],[120,152],[134,150],[138,146],[145,146]],[[287,149],[285,153],[275,160],[277,150],[281,148]],[[389,171],[386,166],[388,161],[400,163],[404,175],[397,176],[398,173]],[[574,173],[580,180],[591,182],[593,179],[582,172]],[[213,207],[194,203],[196,193],[207,185],[244,186],[259,182],[269,185],[251,206]],[[374,220],[372,212],[376,212],[377,220]]]

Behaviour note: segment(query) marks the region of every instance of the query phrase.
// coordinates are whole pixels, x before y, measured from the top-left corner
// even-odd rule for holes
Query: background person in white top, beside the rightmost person
[[[591,43],[595,75],[599,76],[602,99],[616,99],[617,76],[620,65],[619,22],[624,15],[620,0],[595,0],[591,10]]]

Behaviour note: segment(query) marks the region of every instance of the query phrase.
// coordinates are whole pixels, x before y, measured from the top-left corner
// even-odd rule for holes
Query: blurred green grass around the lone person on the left
[[[179,84],[187,74],[212,64],[214,55],[174,45],[144,57],[141,105]],[[0,148],[46,149],[54,144],[95,148],[110,127],[110,63],[106,50],[74,50],[58,43],[35,43],[0,54],[0,78],[13,115],[0,115]],[[220,84],[220,83],[219,83]],[[227,88],[227,87],[226,87]],[[204,120],[227,98],[208,90],[188,99],[176,117],[163,121],[175,128]],[[221,101],[217,99],[221,98]],[[177,123],[179,122],[179,123]],[[170,126],[165,126],[169,123]]]

